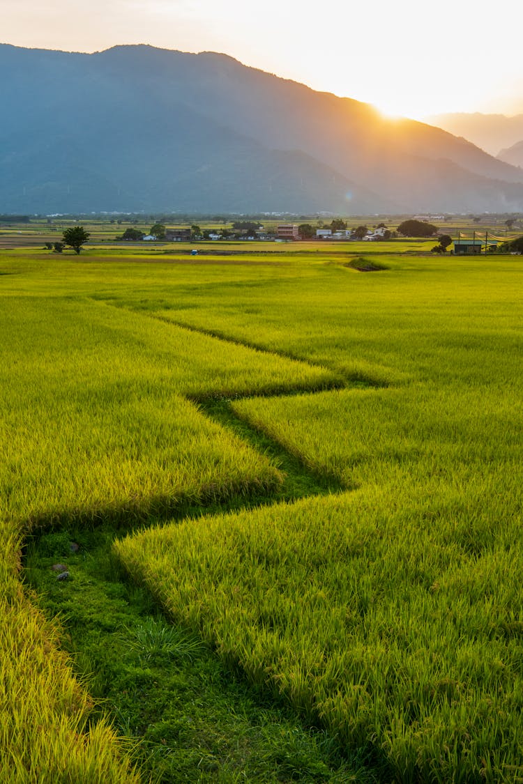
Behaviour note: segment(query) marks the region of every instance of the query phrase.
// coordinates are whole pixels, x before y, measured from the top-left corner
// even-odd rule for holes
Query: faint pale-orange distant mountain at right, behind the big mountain
[[[430,125],[437,125],[445,131],[464,136],[470,142],[492,155],[497,155],[504,147],[523,140],[523,114],[435,114],[427,118]],[[506,160],[503,158],[503,160]]]

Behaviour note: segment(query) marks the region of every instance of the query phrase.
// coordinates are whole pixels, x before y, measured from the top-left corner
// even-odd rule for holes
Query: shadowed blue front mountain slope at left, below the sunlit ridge
[[[302,151],[270,150],[173,100],[162,71],[153,89],[147,74],[111,71],[100,57],[0,46],[0,73],[11,71],[0,211],[404,209]]]

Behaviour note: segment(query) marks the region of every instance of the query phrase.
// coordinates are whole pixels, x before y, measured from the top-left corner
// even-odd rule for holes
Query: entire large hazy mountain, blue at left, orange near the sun
[[[523,172],[449,132],[147,45],[0,45],[0,212],[505,212]]]

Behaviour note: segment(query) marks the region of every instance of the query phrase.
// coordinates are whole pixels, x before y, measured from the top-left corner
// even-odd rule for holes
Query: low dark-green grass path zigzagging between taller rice
[[[270,496],[182,504],[178,521],[342,491],[335,477],[307,469],[236,416],[229,401],[207,400],[200,408],[263,453],[285,478]],[[304,728],[289,705],[278,706],[274,695],[249,686],[241,669],[220,661],[188,627],[166,622],[149,588],[129,582],[111,555],[113,543],[129,533],[125,510],[119,528],[103,520],[102,512],[100,527],[93,528],[64,519],[58,530],[30,537],[24,579],[45,612],[64,618],[66,647],[89,693],[109,710],[119,733],[140,740],[136,759],[142,771],[165,784],[235,782],[238,776],[303,784],[376,780],[357,754],[347,757],[329,733]],[[159,523],[158,517],[148,521]],[[143,521],[136,528],[143,530]],[[71,552],[71,542],[77,551]],[[52,570],[56,562],[67,566],[64,581]]]

